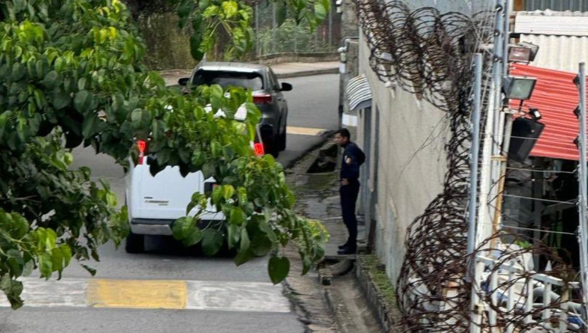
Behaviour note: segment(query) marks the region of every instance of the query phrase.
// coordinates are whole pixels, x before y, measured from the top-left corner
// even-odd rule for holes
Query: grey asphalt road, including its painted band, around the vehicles
[[[278,161],[298,159],[337,127],[338,75],[285,79],[294,89],[289,105],[288,145]],[[108,156],[74,150],[75,165],[89,166],[123,202],[122,169]],[[173,240],[149,237],[148,253],[127,254],[107,244],[90,277],[72,262],[61,281],[25,278],[25,305],[1,308],[0,333],[24,332],[299,332],[281,285],[269,282],[266,260],[235,267],[227,257],[207,258],[183,250]],[[38,275],[37,275],[38,276]],[[6,303],[0,302],[0,305]]]

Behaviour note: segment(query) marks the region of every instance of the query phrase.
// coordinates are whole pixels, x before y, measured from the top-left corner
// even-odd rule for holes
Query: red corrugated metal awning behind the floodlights
[[[510,75],[537,78],[531,99],[524,101],[523,111],[536,107],[541,112],[540,122],[545,124],[543,133],[531,151],[531,156],[553,159],[578,160],[579,152],[574,139],[579,134],[578,119],[574,109],[579,103],[579,93],[573,79],[576,73],[538,68],[515,63]],[[519,108],[519,100],[511,100],[512,109]]]

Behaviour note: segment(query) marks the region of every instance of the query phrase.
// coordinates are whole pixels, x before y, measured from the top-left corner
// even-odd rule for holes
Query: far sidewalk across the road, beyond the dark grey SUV
[[[310,76],[320,74],[339,73],[338,61],[325,62],[286,62],[270,66],[279,79],[296,78],[299,76]],[[178,79],[191,75],[192,69],[169,69],[159,72],[165,80],[166,86],[178,84]]]

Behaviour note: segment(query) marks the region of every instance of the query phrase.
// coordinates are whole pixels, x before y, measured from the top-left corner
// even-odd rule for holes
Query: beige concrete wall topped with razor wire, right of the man
[[[362,38],[359,72],[368,76],[373,95],[369,136],[372,149],[366,155],[375,166],[369,170],[370,181],[363,186],[369,186],[375,194],[377,255],[386,265],[390,280],[396,282],[405,254],[406,228],[442,190],[446,171],[443,144],[447,136],[442,126],[445,113],[400,88],[386,88],[369,68],[368,55]],[[363,110],[358,126],[362,147],[365,112],[368,111]],[[431,133],[437,139],[422,147]]]

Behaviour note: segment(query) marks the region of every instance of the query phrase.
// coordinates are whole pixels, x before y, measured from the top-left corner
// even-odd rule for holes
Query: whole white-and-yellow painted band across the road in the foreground
[[[24,278],[25,307],[96,307],[290,312],[280,285],[185,280],[38,280]],[[0,307],[9,307],[4,298]]]

